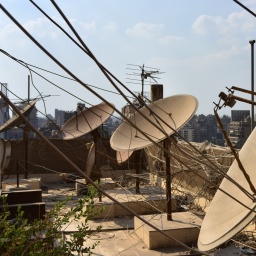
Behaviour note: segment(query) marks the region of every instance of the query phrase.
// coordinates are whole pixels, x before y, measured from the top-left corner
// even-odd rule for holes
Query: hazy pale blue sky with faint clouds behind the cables
[[[73,36],[50,1],[35,2]],[[256,1],[240,2],[256,12]],[[1,3],[56,59],[84,83],[103,89],[91,87],[121,110],[125,100],[95,62],[30,1],[2,0]],[[249,41],[256,39],[256,18],[232,0],[57,0],[56,3],[98,61],[131,91],[141,91],[141,85],[127,83],[130,81],[127,78],[139,78],[127,75],[133,72],[127,68],[136,68],[128,64],[144,64],[164,72],[157,80],[164,85],[164,97],[194,95],[199,101],[197,114],[213,114],[213,102],[218,102],[221,91],[227,92],[226,86],[251,88]],[[0,48],[26,63],[68,76],[2,10]],[[28,69],[2,53],[0,67],[0,82],[8,83],[18,97],[27,98]],[[88,107],[101,102],[77,82],[39,72],[83,99]],[[36,74],[32,78],[31,98],[37,97],[38,92],[51,95],[45,98],[46,113],[54,114],[55,108],[75,110],[80,102]],[[125,95],[130,95],[117,85]],[[145,85],[144,90],[149,92],[150,86]],[[237,92],[236,95],[250,99],[248,94]],[[11,93],[9,97],[16,99]],[[45,112],[42,101],[37,103],[37,108]],[[233,109],[250,108],[239,103]],[[225,108],[219,113],[230,115],[230,110]]]

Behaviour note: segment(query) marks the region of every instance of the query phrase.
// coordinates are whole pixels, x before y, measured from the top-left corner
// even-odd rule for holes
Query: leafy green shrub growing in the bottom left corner
[[[24,218],[24,212],[18,207],[14,220],[9,220],[10,211],[2,196],[0,212],[0,255],[2,256],[66,256],[91,255],[99,242],[92,246],[84,246],[84,242],[92,235],[88,220],[95,215],[95,189],[89,189],[87,196],[81,198],[74,207],[68,208],[67,202],[58,202],[42,220],[29,222]],[[71,233],[67,239],[63,226],[70,221],[79,221],[77,232]],[[96,231],[100,230],[101,226]]]

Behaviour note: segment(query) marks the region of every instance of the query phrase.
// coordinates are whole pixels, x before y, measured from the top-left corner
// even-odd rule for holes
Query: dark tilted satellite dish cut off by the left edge
[[[24,116],[27,117],[30,114],[30,112],[32,111],[36,102],[37,102],[37,100],[34,100],[34,101],[31,101],[29,104],[27,104],[22,110],[20,110],[21,114],[23,114]],[[20,118],[20,116],[15,113],[14,116],[11,119],[9,119],[6,123],[4,123],[0,127],[0,132],[4,132],[4,131],[7,131],[9,129],[12,129],[12,128],[20,125],[22,122],[23,121]]]

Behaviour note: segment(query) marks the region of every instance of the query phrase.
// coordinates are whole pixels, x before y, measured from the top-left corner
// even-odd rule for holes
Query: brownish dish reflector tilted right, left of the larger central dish
[[[113,112],[114,109],[106,103],[100,103],[79,112],[60,128],[62,139],[71,140],[93,131],[104,123]]]

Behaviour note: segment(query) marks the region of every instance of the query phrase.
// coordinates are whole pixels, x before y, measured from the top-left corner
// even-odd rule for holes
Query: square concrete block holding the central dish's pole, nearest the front
[[[141,216],[168,235],[188,246],[196,246],[202,219],[191,212],[172,213],[172,221],[163,215]],[[176,241],[159,233],[134,217],[134,230],[149,249],[180,246]]]

